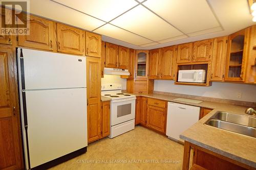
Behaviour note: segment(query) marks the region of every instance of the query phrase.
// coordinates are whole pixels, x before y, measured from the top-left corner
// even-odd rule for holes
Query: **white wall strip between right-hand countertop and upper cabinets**
[[[212,82],[209,87],[174,85],[174,81],[155,80],[155,91],[199,95],[237,101],[256,102],[256,85]],[[237,98],[242,93],[241,99]]]

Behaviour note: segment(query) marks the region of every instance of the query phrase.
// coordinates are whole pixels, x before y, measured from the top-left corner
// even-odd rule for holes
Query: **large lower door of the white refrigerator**
[[[26,104],[31,168],[87,146],[86,88],[26,91]]]

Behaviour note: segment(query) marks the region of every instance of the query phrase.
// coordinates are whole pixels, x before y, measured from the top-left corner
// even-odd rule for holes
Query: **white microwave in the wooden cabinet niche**
[[[178,82],[205,83],[204,69],[179,70]]]

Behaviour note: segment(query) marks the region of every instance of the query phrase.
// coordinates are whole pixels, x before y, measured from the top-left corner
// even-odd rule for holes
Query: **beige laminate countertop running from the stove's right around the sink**
[[[206,120],[217,111],[246,115],[244,112],[248,107],[208,101],[200,104],[187,103],[174,100],[178,98],[177,96],[163,94],[137,94],[137,96],[214,109],[183,132],[180,138],[256,168],[256,138],[204,125]]]

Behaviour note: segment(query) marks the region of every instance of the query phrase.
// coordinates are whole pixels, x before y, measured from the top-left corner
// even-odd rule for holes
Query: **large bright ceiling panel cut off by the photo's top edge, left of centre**
[[[106,22],[114,19],[123,12],[138,5],[134,0],[53,0],[60,4],[82,11]]]

